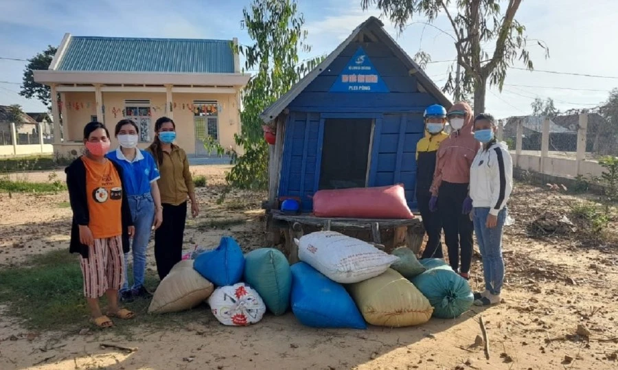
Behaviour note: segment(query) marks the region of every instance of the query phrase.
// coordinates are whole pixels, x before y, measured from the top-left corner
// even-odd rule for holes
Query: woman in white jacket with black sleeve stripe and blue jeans
[[[496,141],[496,120],[481,113],[474,118],[474,137],[483,144],[470,167],[470,198],[474,233],[483,256],[485,291],[474,293],[475,305],[500,303],[504,280],[502,229],[513,189],[513,161],[505,143]]]

